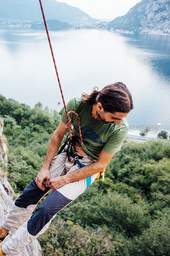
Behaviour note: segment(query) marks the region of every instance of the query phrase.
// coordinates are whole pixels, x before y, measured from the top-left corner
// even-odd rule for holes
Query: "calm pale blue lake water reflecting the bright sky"
[[[65,101],[118,81],[133,95],[130,125],[170,130],[170,36],[104,30],[50,31]],[[45,31],[0,30],[0,93],[60,110],[62,98]],[[60,106],[57,103],[61,102]]]

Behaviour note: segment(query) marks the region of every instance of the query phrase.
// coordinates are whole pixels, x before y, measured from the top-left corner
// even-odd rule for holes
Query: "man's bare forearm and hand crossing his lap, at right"
[[[48,185],[52,189],[52,191],[56,190],[57,188],[63,187],[65,184],[68,184],[73,181],[83,180],[93,174],[102,172],[106,166],[109,164],[112,157],[115,155],[107,153],[106,151],[102,150],[99,156],[99,159],[93,163],[89,164],[81,169],[78,169],[74,172],[70,172],[66,175],[55,177],[48,181]]]

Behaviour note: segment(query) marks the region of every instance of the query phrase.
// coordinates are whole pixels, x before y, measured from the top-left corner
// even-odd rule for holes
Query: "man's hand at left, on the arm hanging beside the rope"
[[[46,179],[46,185],[42,184],[43,180]],[[35,179],[35,182],[41,190],[45,190],[46,187],[48,187],[48,181],[50,179],[50,173],[48,168],[41,168],[40,172],[37,175],[37,178]]]

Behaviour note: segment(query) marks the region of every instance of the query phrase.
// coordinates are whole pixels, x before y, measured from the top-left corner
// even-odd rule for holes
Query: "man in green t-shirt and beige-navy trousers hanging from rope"
[[[63,108],[59,112],[61,122],[52,135],[40,172],[15,201],[0,228],[0,241],[9,230],[16,231],[0,246],[0,256],[17,255],[31,244],[48,228],[57,212],[92,184],[122,147],[128,132],[125,117],[133,109],[132,97],[125,84],[107,85],[100,92],[95,88],[90,95],[83,93],[81,98],[71,99],[66,107],[80,117],[84,145],[80,146],[78,118],[71,113],[75,147],[66,145],[63,152],[55,156],[67,131]],[[34,211],[50,189],[52,193]]]

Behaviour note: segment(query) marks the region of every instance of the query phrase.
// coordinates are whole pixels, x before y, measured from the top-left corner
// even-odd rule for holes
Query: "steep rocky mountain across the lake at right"
[[[142,0],[129,12],[108,23],[108,28],[141,33],[170,33],[170,1]]]

